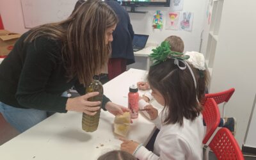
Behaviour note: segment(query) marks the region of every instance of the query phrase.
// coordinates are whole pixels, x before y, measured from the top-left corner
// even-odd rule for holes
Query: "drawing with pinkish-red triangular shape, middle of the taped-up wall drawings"
[[[166,29],[178,30],[179,29],[180,12],[169,12],[166,19]]]

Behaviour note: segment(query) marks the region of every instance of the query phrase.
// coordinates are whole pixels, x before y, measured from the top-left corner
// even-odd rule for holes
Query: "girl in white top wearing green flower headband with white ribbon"
[[[145,107],[160,129],[154,143],[154,152],[150,152],[142,144],[125,139],[120,139],[124,141],[121,150],[138,159],[202,159],[204,125],[200,100],[207,84],[207,74],[204,74],[206,71],[195,68],[201,64],[198,61],[189,63],[188,55],[170,51],[168,42],[163,42],[150,55],[156,61],[148,72],[148,83],[154,99],[164,106],[161,117],[158,116],[157,109]]]

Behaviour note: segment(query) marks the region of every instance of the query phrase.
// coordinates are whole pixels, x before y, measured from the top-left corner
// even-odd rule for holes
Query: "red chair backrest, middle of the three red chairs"
[[[220,124],[220,111],[214,99],[207,99],[202,112],[206,124],[206,133],[203,143],[206,144]]]

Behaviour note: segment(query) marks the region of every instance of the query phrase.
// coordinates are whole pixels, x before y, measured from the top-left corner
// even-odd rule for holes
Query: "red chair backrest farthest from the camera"
[[[206,100],[210,98],[213,98],[217,102],[217,104],[220,104],[222,102],[228,102],[228,100],[230,99],[230,97],[233,95],[234,92],[235,92],[235,88],[230,88],[229,90],[225,90],[223,92],[208,93],[208,94],[205,94],[204,100],[202,100],[201,103],[204,105]]]

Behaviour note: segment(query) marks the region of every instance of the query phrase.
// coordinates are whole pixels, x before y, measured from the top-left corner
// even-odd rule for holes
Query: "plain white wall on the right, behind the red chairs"
[[[237,119],[236,139],[240,145],[256,93],[255,6],[255,0],[224,1],[211,80],[212,93],[236,88],[226,115]]]

